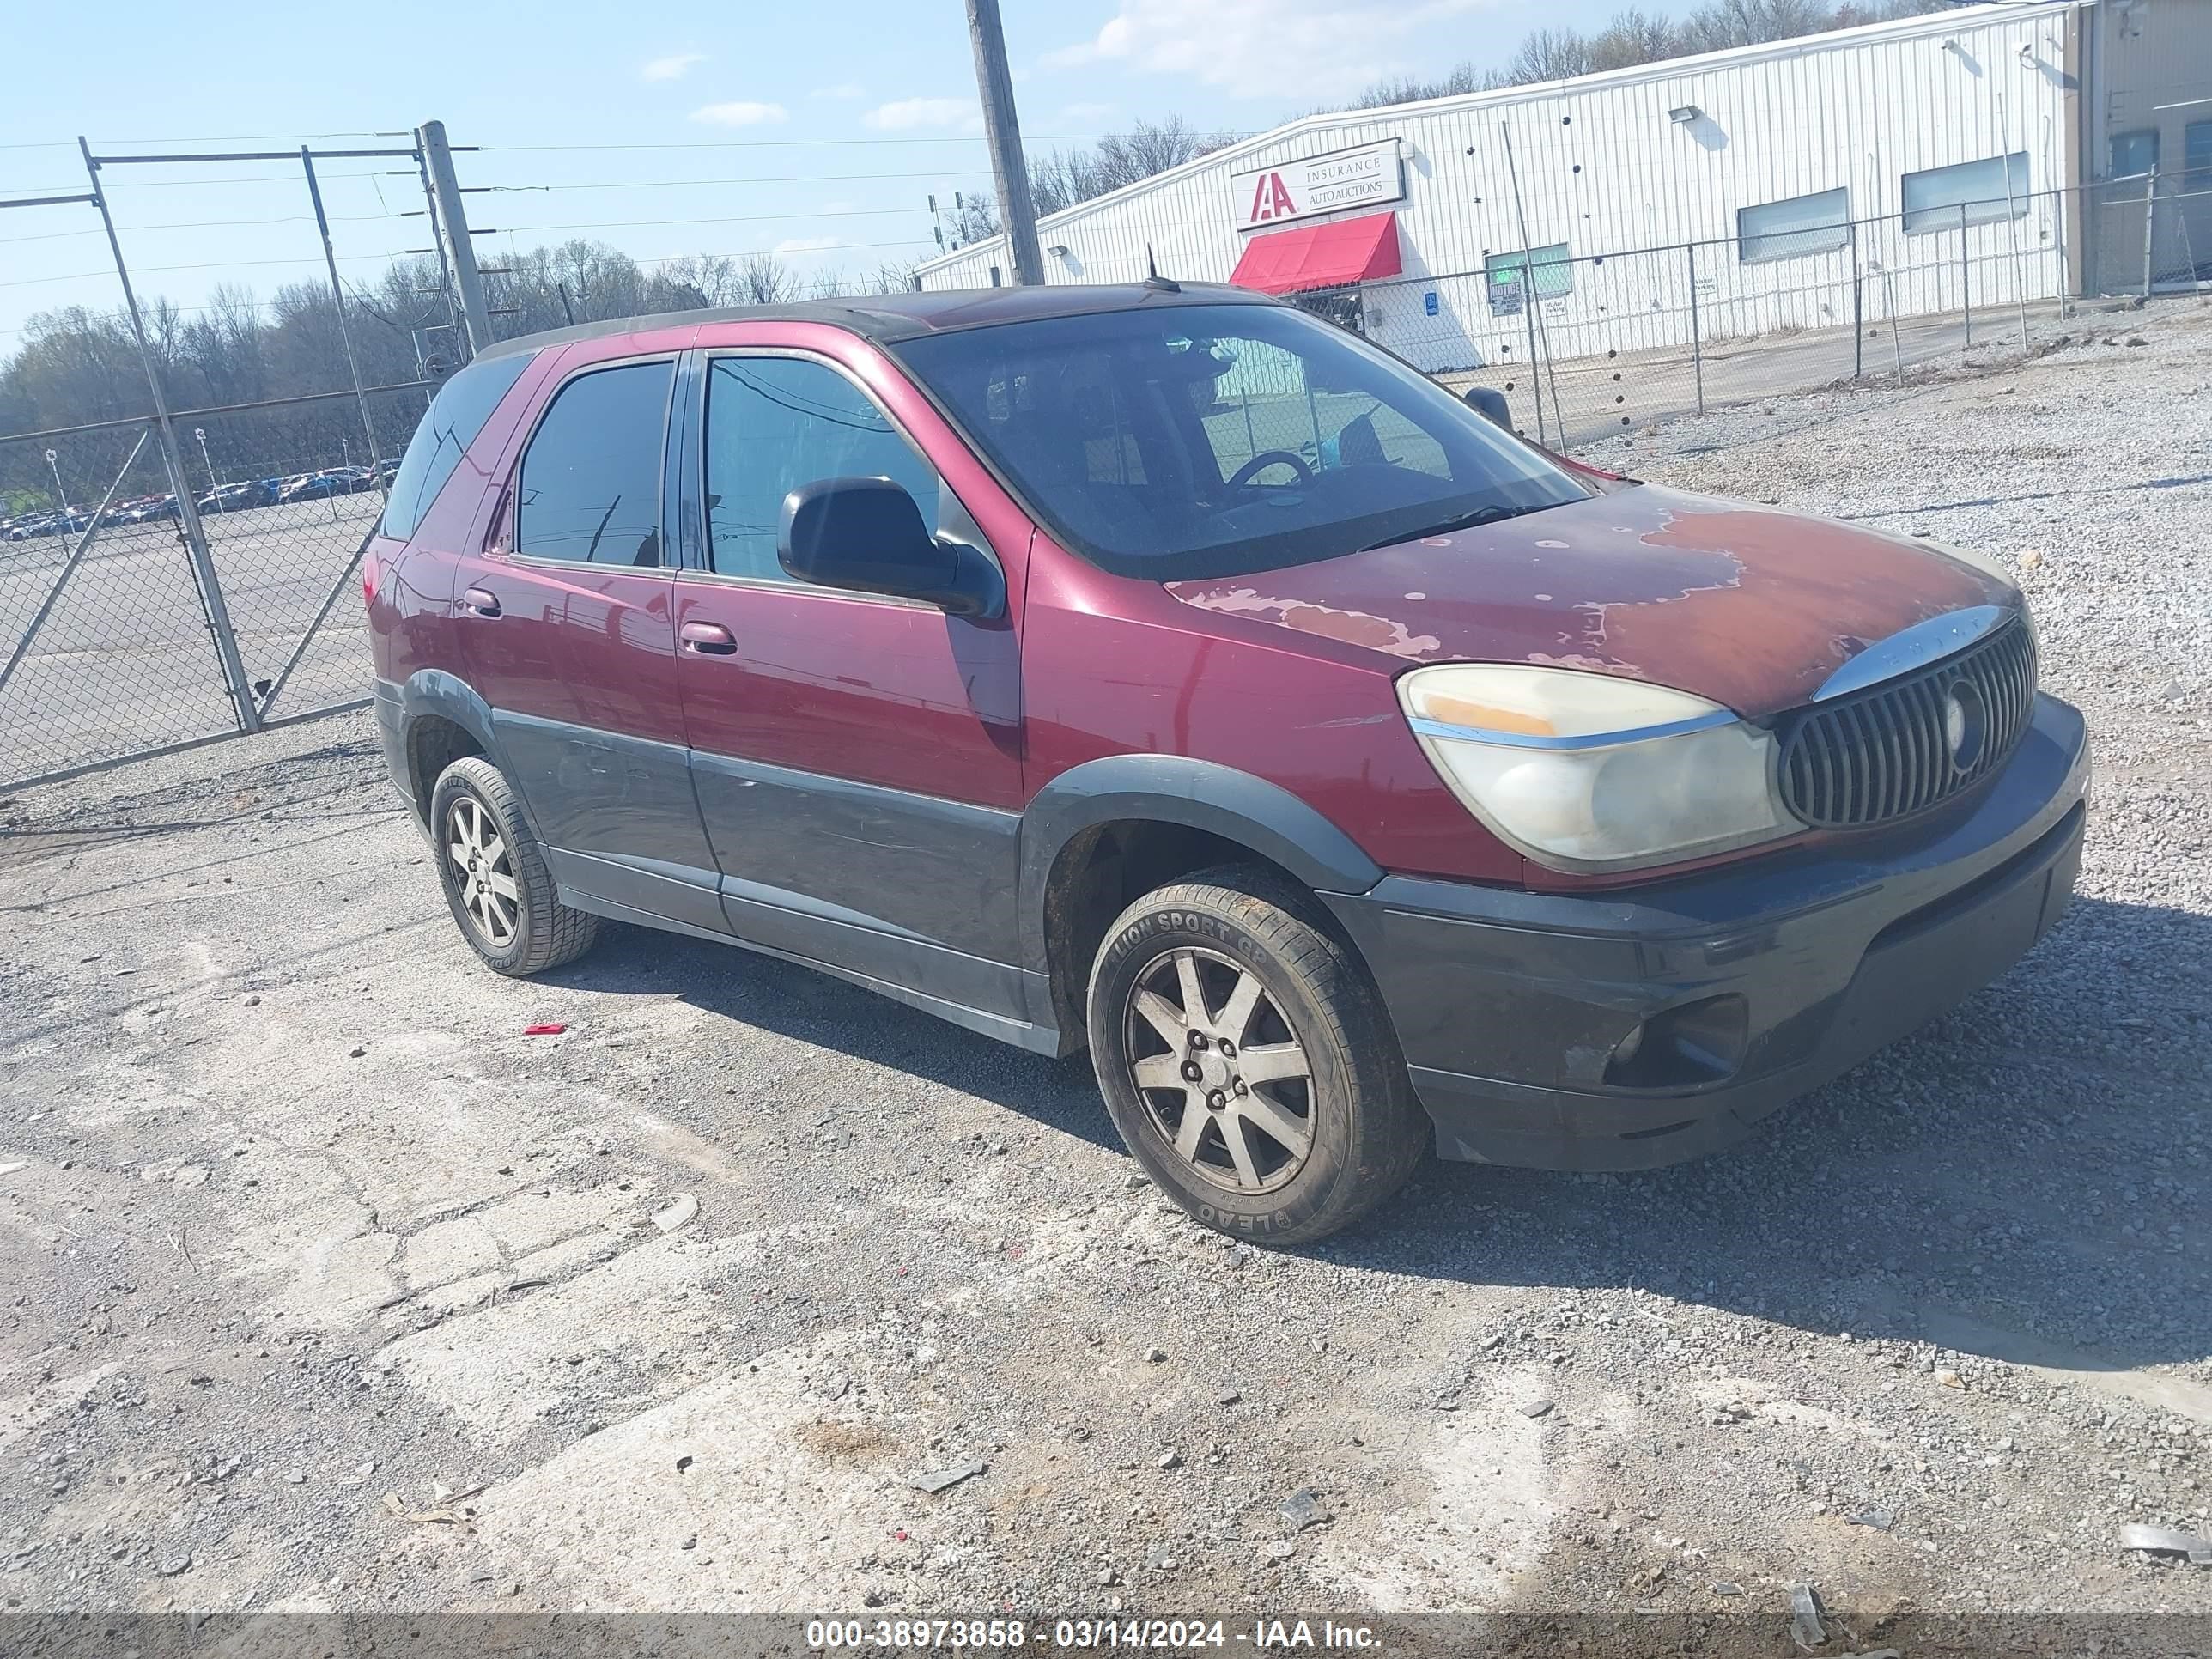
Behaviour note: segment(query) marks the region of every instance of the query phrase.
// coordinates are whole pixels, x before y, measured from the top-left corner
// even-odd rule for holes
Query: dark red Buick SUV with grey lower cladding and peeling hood
[[[511,341],[365,571],[487,964],[615,918],[1088,1046],[1146,1172],[1279,1243],[1431,1144],[1723,1146],[2079,865],[1995,566],[1564,462],[1228,288]]]

